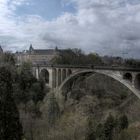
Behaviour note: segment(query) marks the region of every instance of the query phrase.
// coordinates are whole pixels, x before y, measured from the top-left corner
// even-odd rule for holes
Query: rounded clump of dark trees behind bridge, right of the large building
[[[53,64],[70,65],[100,65],[103,64],[101,57],[96,53],[85,54],[81,49],[66,49],[60,51],[60,56],[52,60]]]

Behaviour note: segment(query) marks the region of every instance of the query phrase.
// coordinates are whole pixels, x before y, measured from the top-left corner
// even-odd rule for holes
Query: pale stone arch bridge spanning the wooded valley
[[[99,73],[129,88],[140,99],[140,69],[106,66],[34,65],[33,74],[42,78],[51,89],[60,91],[75,78]]]

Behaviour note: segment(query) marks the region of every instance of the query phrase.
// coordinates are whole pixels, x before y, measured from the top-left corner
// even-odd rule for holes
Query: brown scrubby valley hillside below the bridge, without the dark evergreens
[[[44,103],[40,105],[42,115],[32,119],[32,130],[28,131],[27,137],[30,138],[29,132],[32,132],[33,140],[85,140],[89,122],[94,130],[99,123],[104,123],[110,114],[114,117],[125,114],[129,127],[118,139],[129,137],[138,140],[139,110],[139,99],[117,81],[98,74],[88,78],[80,77],[75,81],[73,89],[67,93],[65,109],[62,112],[53,93],[47,95]],[[24,124],[27,125],[27,122],[28,117],[27,120],[24,119]]]

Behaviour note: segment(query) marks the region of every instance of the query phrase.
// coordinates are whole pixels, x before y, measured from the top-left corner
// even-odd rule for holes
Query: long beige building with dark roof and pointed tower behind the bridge
[[[30,45],[29,50],[16,52],[17,63],[31,62],[32,64],[50,64],[51,60],[59,56],[59,50],[55,49],[34,49]]]

